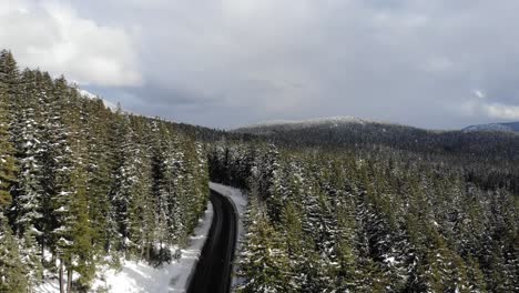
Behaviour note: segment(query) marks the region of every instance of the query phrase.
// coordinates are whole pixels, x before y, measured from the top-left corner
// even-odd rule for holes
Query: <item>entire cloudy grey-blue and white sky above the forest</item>
[[[517,0],[0,0],[0,48],[146,115],[519,120]]]

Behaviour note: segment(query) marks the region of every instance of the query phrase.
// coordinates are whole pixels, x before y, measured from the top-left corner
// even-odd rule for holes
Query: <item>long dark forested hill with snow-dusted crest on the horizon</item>
[[[519,137],[511,131],[434,131],[352,117],[272,121],[233,130],[291,148],[367,150],[386,146],[423,154],[490,154],[519,160]]]

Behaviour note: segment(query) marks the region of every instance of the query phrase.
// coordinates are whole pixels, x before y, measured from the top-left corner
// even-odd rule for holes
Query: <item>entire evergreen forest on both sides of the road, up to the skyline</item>
[[[213,130],[109,109],[1,51],[0,292],[174,260],[208,181],[247,195],[236,292],[519,292],[518,134]]]

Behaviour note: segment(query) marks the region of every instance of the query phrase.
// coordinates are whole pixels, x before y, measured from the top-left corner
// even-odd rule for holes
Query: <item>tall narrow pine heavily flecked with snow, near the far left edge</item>
[[[20,171],[13,188],[14,199],[10,214],[16,234],[20,239],[20,256],[27,267],[27,282],[32,287],[42,276],[42,250],[37,240],[42,241],[43,234],[39,226],[43,208],[43,174],[40,163],[41,137],[35,117],[39,97],[37,73],[23,71],[21,83],[23,94],[18,100],[20,113],[13,122],[20,131],[20,137],[16,140]]]

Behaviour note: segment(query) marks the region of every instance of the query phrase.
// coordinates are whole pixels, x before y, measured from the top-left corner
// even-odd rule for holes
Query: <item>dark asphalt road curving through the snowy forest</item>
[[[236,211],[230,200],[211,191],[214,215],[211,230],[191,280],[189,293],[228,293],[236,246]]]

